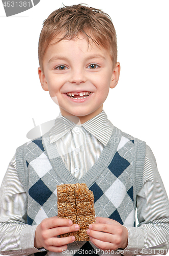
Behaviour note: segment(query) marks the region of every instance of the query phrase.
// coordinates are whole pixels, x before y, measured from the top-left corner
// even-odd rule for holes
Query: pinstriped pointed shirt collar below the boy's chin
[[[74,117],[73,119],[68,119],[60,113],[60,115],[55,119],[54,127],[52,127],[49,132],[50,143],[62,138],[65,134],[71,131],[73,127],[82,126],[101,143],[106,145],[113,131],[113,125],[107,119],[107,115],[104,110],[83,124],[77,125],[77,123],[78,118],[77,120],[74,119]]]

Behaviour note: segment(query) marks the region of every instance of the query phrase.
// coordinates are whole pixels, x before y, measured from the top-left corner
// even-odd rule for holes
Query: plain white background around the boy
[[[64,5],[86,3],[108,13],[118,40],[121,76],[103,109],[122,131],[147,142],[156,157],[167,194],[169,2],[167,0],[41,0],[34,8],[6,17],[0,2],[0,183],[27,132],[54,119],[59,107],[38,78],[38,39],[45,18]]]

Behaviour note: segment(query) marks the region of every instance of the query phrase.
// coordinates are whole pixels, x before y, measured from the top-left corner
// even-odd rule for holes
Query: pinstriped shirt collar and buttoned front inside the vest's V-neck
[[[60,114],[49,136],[71,174],[80,179],[97,161],[112,131],[104,111],[80,125]]]

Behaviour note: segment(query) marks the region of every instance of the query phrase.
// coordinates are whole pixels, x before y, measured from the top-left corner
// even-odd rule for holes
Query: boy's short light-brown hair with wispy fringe
[[[82,33],[88,40],[110,51],[113,64],[117,62],[117,39],[114,25],[108,14],[99,9],[83,5],[64,6],[53,11],[43,22],[39,38],[39,64],[43,70],[43,57],[52,41],[59,35],[56,42],[63,39],[78,38]]]

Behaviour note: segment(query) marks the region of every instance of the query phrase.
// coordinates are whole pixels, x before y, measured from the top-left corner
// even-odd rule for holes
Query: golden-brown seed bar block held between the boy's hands
[[[80,229],[76,232],[62,234],[60,237],[75,236],[76,241],[89,241],[87,229],[95,223],[93,192],[85,183],[62,184],[57,186],[58,217],[72,220]]]

